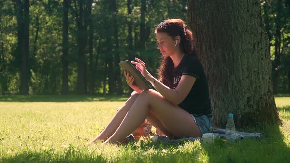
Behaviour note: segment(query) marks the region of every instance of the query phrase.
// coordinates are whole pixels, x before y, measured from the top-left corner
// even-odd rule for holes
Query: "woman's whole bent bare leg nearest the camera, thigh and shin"
[[[147,90],[138,96],[122,123],[116,129],[116,132],[106,142],[120,142],[144,122],[149,111],[152,111],[169,133],[176,137],[201,136],[192,115],[168,102],[159,92]]]

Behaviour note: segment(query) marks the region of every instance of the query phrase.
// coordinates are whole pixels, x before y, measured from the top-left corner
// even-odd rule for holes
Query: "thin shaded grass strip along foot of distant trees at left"
[[[2,95],[0,102],[91,102],[126,101],[129,95]]]

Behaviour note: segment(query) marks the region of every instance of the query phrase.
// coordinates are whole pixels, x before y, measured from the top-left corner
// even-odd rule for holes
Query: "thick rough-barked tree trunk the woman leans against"
[[[259,0],[188,0],[188,23],[209,84],[213,124],[279,122]]]

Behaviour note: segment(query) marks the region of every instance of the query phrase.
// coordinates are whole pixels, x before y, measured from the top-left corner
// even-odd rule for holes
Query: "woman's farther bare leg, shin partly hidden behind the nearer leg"
[[[116,113],[111,122],[107,125],[107,127],[91,142],[96,142],[97,140],[107,140],[108,137],[112,136],[112,134],[116,131],[116,129],[121,124],[122,120],[126,116],[129,109],[132,107],[134,101],[137,99],[139,94],[135,91],[131,94],[131,97],[125,102],[125,104],[121,107],[121,109]]]

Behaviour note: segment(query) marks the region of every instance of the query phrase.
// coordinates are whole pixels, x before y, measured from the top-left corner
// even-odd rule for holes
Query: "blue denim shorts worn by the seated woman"
[[[201,115],[201,116],[193,116],[193,119],[195,123],[198,125],[201,134],[203,135],[204,133],[210,133],[210,127],[212,127],[212,121],[211,117],[208,117],[206,115]]]

